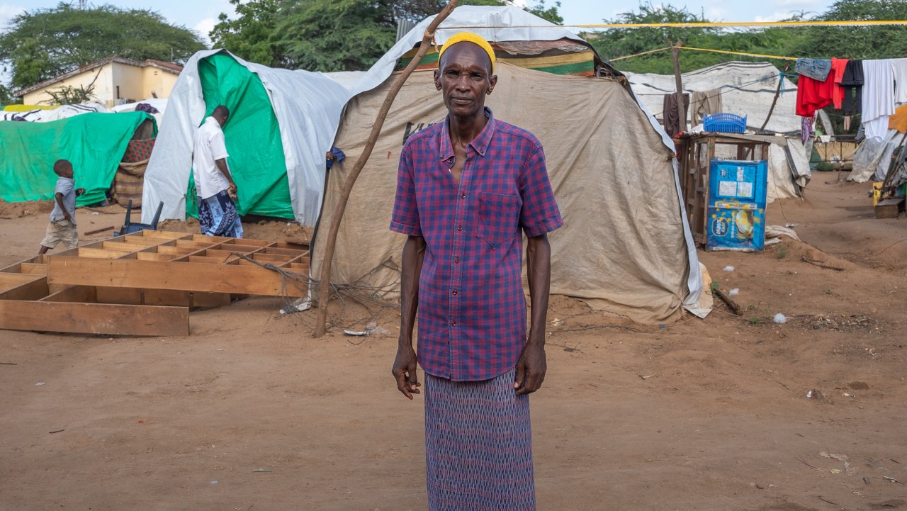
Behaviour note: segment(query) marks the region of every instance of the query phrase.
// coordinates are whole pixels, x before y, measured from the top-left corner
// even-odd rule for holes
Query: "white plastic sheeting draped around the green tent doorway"
[[[211,50],[192,55],[171,91],[161,134],[145,172],[142,193],[142,201],[146,203],[164,202],[161,219],[186,218],[192,133],[207,112],[199,63],[220,52],[229,54]],[[350,93],[325,74],[274,69],[229,55],[257,74],[268,92],[278,120],[293,214],[299,223],[314,226],[324,191],[325,153],[334,141],[340,114]],[[227,150],[235,152],[229,143]],[[151,221],[153,213],[142,211],[142,221]]]

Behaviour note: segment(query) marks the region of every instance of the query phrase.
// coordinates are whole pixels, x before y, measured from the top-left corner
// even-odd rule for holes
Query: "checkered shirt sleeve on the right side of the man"
[[[532,238],[561,227],[561,211],[551,190],[545,152],[541,146],[532,150],[520,172],[522,211],[520,225],[526,236]]]

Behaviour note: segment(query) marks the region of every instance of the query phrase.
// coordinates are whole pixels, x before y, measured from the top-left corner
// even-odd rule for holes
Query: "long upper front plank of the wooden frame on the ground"
[[[51,258],[48,282],[149,290],[186,290],[279,296],[276,271],[238,264],[192,264],[163,260]],[[288,285],[288,296],[306,294]]]

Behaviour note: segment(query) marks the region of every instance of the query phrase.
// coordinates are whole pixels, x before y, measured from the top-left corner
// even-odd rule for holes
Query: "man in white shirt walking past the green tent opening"
[[[242,238],[242,221],[233,203],[238,199],[236,183],[229,173],[229,154],[220,129],[228,118],[229,110],[221,104],[196,130],[192,141],[192,170],[199,198],[201,233]]]

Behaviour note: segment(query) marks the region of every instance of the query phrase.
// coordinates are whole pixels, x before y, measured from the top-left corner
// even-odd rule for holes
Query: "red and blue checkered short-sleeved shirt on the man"
[[[447,120],[409,137],[391,220],[392,231],[426,243],[419,364],[453,380],[490,379],[516,365],[526,342],[521,230],[538,236],[563,225],[539,140],[485,114],[459,185]]]

